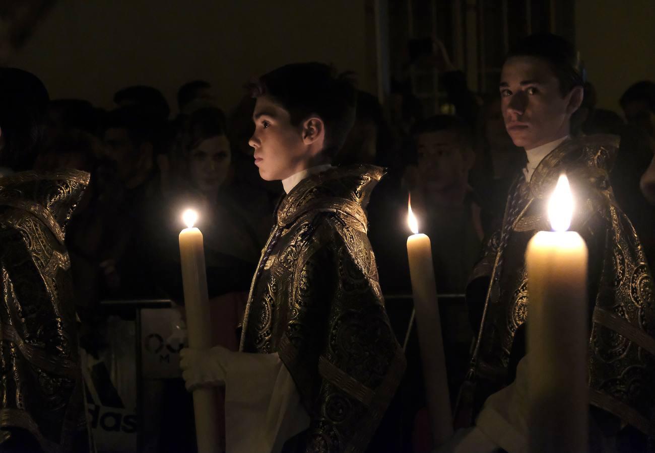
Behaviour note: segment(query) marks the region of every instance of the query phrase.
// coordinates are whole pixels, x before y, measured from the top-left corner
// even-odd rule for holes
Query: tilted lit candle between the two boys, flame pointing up
[[[440,446],[453,435],[453,414],[443,355],[432,248],[430,247],[430,238],[426,234],[419,234],[419,223],[411,210],[411,200],[408,205],[407,220],[409,228],[414,233],[407,238],[409,275],[416,312],[430,426],[435,446]]]

